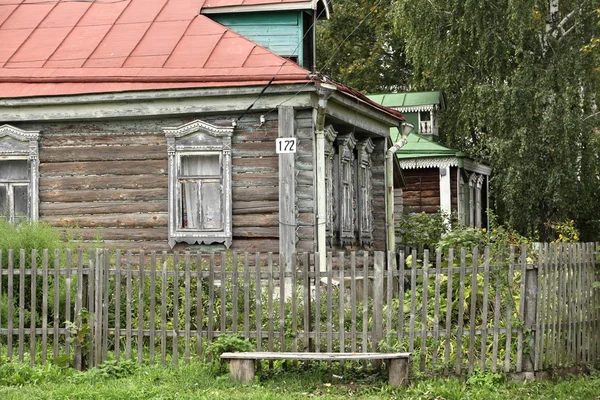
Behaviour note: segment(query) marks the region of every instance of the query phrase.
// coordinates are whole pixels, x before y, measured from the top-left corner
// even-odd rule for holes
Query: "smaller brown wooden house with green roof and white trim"
[[[457,215],[463,224],[487,228],[491,168],[438,143],[439,113],[446,108],[443,93],[393,93],[369,98],[401,111],[417,128],[396,152],[406,181],[403,206],[411,212],[442,210]],[[396,141],[398,130],[392,129],[391,136]]]

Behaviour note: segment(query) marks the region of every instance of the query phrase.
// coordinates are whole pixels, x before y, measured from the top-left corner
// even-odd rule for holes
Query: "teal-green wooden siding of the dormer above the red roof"
[[[302,66],[302,12],[237,13],[210,17],[280,56],[298,57]]]

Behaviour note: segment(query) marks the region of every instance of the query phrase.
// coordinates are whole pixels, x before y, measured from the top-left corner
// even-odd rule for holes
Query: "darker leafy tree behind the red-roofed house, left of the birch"
[[[406,90],[410,66],[386,0],[335,0],[329,21],[318,24],[317,69],[355,89]]]

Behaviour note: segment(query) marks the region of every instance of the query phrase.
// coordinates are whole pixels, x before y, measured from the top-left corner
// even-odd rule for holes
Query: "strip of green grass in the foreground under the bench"
[[[265,365],[266,367],[266,365]],[[342,375],[340,377],[340,375]],[[330,369],[326,364],[284,371],[277,365],[249,385],[215,376],[205,364],[178,368],[106,363],[87,372],[46,365],[0,364],[0,398],[8,399],[600,399],[600,374],[557,382],[506,383],[500,375],[413,379],[391,388],[372,372]]]

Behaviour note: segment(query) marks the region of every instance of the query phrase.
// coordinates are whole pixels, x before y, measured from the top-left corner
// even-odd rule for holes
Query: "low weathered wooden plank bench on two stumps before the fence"
[[[410,353],[276,353],[241,352],[223,353],[221,360],[230,362],[231,379],[240,382],[254,380],[256,360],[293,361],[357,361],[388,360],[389,382],[391,386],[408,384],[408,361]]]

